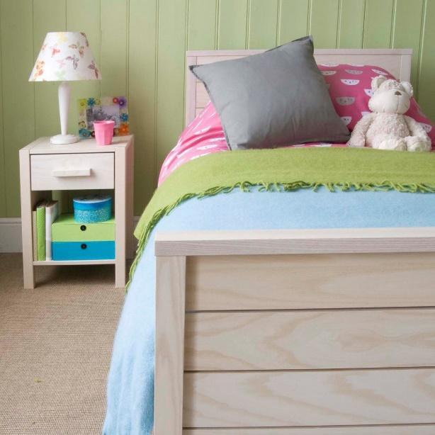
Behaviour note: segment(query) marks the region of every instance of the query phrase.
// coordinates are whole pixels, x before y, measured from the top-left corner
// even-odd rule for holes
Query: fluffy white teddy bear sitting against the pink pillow
[[[403,115],[409,109],[412,85],[383,76],[371,81],[373,95],[367,113],[356,123],[347,145],[403,151],[429,151],[431,140],[416,120]]]

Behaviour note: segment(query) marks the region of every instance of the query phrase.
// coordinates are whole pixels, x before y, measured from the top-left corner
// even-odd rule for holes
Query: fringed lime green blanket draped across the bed
[[[174,171],[155,191],[135,230],[139,239],[132,271],[149,234],[184,200],[235,188],[293,191],[298,188],[435,192],[435,153],[355,148],[281,148],[220,152]]]

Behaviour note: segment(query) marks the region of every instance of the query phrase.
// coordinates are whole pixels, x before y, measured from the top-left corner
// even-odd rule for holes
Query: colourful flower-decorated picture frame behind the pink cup
[[[128,135],[128,104],[125,96],[105,96],[79,98],[79,137],[87,139],[94,137],[95,120],[113,120],[114,136]]]

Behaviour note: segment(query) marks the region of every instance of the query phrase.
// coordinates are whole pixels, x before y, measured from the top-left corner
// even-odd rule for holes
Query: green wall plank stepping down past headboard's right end
[[[423,0],[396,0],[392,47],[412,48],[411,81],[417,94]]]

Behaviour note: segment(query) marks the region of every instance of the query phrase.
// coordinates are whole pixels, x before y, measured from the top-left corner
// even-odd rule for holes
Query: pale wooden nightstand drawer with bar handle
[[[33,154],[30,156],[33,191],[113,188],[113,152]]]

